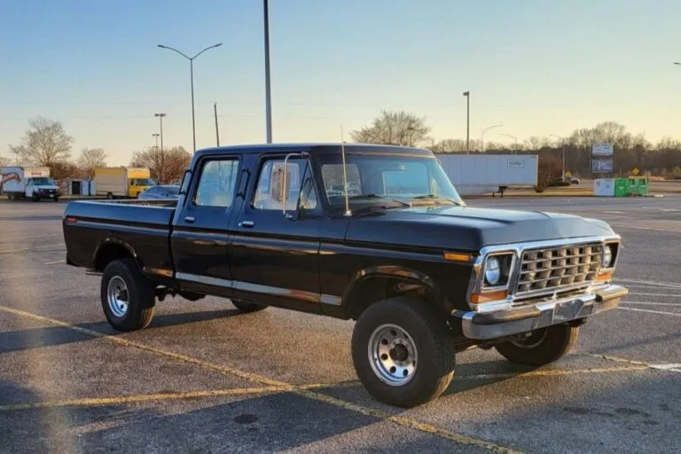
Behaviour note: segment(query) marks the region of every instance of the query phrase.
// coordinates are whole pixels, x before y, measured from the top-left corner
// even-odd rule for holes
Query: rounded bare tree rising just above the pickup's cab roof
[[[372,126],[352,131],[355,142],[383,145],[424,145],[431,142],[425,118],[408,112],[381,111]]]

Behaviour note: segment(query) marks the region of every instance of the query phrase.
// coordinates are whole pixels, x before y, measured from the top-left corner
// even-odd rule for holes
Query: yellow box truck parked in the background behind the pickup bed
[[[95,168],[95,193],[106,199],[137,199],[140,192],[155,185],[148,168]]]

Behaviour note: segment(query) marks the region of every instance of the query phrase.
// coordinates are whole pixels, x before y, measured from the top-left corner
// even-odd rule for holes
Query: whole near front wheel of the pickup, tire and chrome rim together
[[[353,364],[364,388],[379,402],[403,408],[442,395],[454,376],[454,348],[444,318],[411,298],[372,304],[352,334]]]

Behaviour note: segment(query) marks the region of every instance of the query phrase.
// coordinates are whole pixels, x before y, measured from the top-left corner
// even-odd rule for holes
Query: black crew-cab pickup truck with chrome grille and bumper
[[[469,207],[412,147],[200,150],[178,200],[74,201],[63,231],[115,329],[145,328],[168,295],[353,319],[357,376],[407,408],[441,395],[467,348],[556,361],[628,293],[607,223]]]

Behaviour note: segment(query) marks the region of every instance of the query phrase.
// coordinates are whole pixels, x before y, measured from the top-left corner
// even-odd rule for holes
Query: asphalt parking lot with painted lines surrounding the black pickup
[[[607,220],[630,295],[560,362],[466,351],[402,411],[358,385],[352,322],[176,298],[114,333],[63,262],[65,205],[0,201],[0,452],[681,452],[681,197],[468,203]]]

